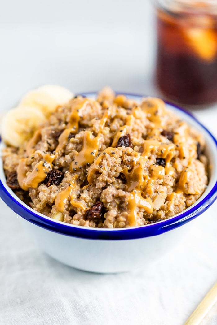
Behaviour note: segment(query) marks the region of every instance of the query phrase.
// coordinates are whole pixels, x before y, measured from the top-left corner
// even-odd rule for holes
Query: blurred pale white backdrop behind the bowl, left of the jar
[[[57,83],[77,91],[150,93],[155,55],[149,1],[2,1],[4,105]]]

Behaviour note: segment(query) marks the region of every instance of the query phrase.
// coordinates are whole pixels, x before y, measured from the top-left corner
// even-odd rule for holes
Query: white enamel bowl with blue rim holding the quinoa
[[[94,98],[96,93],[85,93]],[[142,96],[126,94],[141,100]],[[0,196],[33,233],[41,250],[58,261],[91,272],[122,272],[141,267],[162,256],[182,240],[190,228],[185,225],[202,214],[217,197],[217,142],[210,132],[189,112],[166,103],[181,119],[194,126],[205,137],[206,155],[210,162],[209,185],[191,207],[170,219],[142,227],[100,229],[75,226],[56,221],[35,212],[24,204],[6,185],[0,163]],[[0,144],[0,151],[4,144]],[[192,224],[191,222],[188,225]]]

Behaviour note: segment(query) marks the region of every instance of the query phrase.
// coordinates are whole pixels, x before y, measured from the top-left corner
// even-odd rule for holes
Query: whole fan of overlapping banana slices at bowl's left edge
[[[1,120],[1,137],[5,143],[20,147],[58,106],[74,95],[58,85],[44,85],[28,92],[18,107],[9,110]]]

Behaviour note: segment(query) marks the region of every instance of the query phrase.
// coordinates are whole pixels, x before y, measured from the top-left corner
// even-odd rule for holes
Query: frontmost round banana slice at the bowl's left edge
[[[45,115],[37,108],[14,108],[2,118],[1,137],[5,143],[20,147],[45,120]]]

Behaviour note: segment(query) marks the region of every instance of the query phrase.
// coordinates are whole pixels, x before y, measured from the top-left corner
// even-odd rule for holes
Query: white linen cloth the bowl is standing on
[[[94,274],[41,253],[1,202],[0,324],[182,325],[216,281],[216,204],[170,253],[140,270]],[[216,309],[210,316],[216,325]]]

